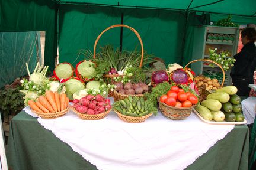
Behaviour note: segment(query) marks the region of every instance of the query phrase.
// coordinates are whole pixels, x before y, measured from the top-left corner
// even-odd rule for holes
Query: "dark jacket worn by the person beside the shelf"
[[[234,58],[236,61],[231,68],[232,79],[252,80],[256,68],[256,47],[254,42],[245,44]]]

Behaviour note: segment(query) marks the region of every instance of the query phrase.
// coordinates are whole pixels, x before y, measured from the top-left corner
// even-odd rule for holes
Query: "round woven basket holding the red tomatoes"
[[[193,105],[191,107],[172,107],[168,106],[165,103],[159,102],[159,109],[161,110],[163,115],[174,120],[183,120],[190,116],[194,106],[196,105]]]

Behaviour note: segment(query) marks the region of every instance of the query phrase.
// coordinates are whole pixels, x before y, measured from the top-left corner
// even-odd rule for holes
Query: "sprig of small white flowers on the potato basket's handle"
[[[209,48],[210,52],[210,60],[215,61],[216,63],[220,64],[222,68],[225,71],[228,71],[231,67],[233,67],[233,63],[235,63],[235,58],[233,57],[228,57],[230,53],[228,51],[220,51],[219,53],[217,52],[217,48],[214,50]],[[209,66],[214,66],[214,64],[210,63]]]

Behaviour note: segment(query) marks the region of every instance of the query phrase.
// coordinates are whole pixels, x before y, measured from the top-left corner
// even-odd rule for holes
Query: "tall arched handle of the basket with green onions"
[[[142,58],[140,59],[140,65],[139,65],[139,67],[141,68],[142,67],[142,62],[143,62],[143,55],[144,55],[143,42],[142,42],[142,39],[140,38],[139,33],[134,28],[129,27],[128,25],[117,24],[117,25],[112,25],[112,26],[106,28],[105,30],[103,30],[103,32],[101,32],[101,34],[98,35],[98,37],[97,37],[97,39],[96,39],[96,41],[94,43],[94,56],[93,56],[93,58],[96,57],[96,46],[97,46],[98,40],[100,39],[101,35],[103,35],[104,32],[106,32],[107,30],[110,30],[111,28],[116,28],[116,27],[126,27],[126,28],[129,28],[130,30],[132,30],[137,35],[137,38],[139,38],[140,46],[142,48]]]

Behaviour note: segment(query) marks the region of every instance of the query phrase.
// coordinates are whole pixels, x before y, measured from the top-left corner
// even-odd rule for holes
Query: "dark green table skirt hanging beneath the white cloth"
[[[248,167],[248,152],[248,127],[237,125],[224,139],[219,140],[187,169],[245,170]],[[37,118],[23,111],[11,121],[7,161],[8,166],[14,170],[97,169],[73,151],[68,144],[41,126]]]

